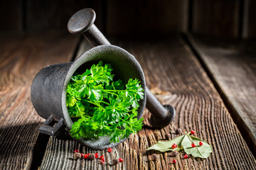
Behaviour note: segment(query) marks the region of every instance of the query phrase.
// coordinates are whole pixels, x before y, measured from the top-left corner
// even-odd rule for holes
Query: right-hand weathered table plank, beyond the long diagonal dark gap
[[[191,36],[193,47],[206,64],[232,108],[232,116],[256,153],[256,43]]]

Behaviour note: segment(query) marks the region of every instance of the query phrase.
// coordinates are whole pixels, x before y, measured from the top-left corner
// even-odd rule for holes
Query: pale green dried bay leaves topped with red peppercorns
[[[176,150],[178,152],[184,149],[184,152],[186,152],[184,158],[188,157],[187,154],[191,154],[193,157],[208,158],[213,151],[213,147],[208,145],[206,141],[203,141],[198,137],[191,136],[190,134],[192,131],[194,134],[195,131],[191,130],[191,132],[178,136],[174,138],[174,140],[169,140],[167,142],[159,141],[156,145],[153,145],[146,150],[155,149],[160,152]]]

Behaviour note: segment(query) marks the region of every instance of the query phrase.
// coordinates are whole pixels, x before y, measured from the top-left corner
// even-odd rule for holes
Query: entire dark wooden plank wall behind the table
[[[95,10],[105,35],[256,36],[255,0],[1,0],[0,30],[68,31],[68,19],[81,8]]]

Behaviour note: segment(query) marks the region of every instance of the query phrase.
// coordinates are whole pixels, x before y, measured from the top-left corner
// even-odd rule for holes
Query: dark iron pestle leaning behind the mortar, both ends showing
[[[95,26],[96,13],[91,8],[84,8],[71,16],[68,30],[72,34],[80,34],[92,44],[111,45],[100,30]],[[152,113],[150,122],[155,128],[164,128],[174,119],[175,110],[170,105],[162,106],[156,97],[146,88],[146,108]]]

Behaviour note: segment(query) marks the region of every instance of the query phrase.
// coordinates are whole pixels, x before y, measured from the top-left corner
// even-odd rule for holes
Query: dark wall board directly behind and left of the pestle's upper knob
[[[28,30],[67,31],[70,17],[76,11],[88,6],[88,1],[33,1],[28,0],[26,27]]]

